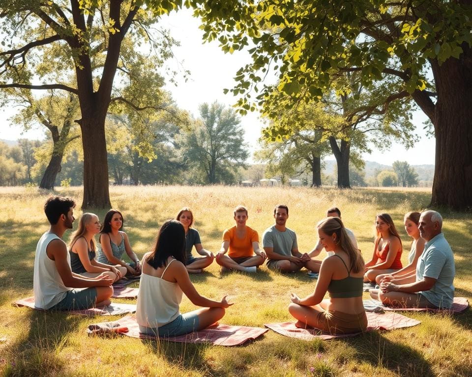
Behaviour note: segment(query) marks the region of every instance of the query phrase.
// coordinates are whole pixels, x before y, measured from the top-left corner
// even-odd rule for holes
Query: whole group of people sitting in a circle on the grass
[[[455,276],[452,250],[442,234],[442,217],[435,211],[405,215],[405,229],[413,238],[409,264],[402,266],[402,242],[388,214],[376,216],[377,236],[372,259],[364,263],[352,231],[344,227],[338,208],[331,208],[317,225],[319,242],[309,253],[298,251],[296,234],[286,227],[289,209],[274,208],[275,224],[266,229],[263,246],[258,233],[246,225],[247,209],[234,210],[236,225],[223,232],[221,249],[206,250],[193,225],[193,213],[183,208],[175,220],[160,227],[155,243],[142,261],[133,252],[123,216],[110,210],[100,223],[83,214],[67,246],[61,237],[72,228],[75,202],[60,196],[47,200],[44,210],[51,228],[38,242],[34,261],[35,306],[41,309],[85,309],[110,303],[112,284],[122,277],[140,275],[136,319],[149,335],[176,336],[219,321],[232,305],[227,296],[201,296],[189,273],[200,273],[213,260],[222,272],[269,269],[295,272],[303,267],[318,277],[314,292],[304,298],[291,294],[290,314],[299,327],[330,333],[353,333],[367,327],[363,290],[385,305],[450,308]],[[100,234],[95,244],[94,236]],[[192,255],[195,246],[200,257]],[[322,249],[327,255],[318,260]],[[133,261],[126,263],[126,252]],[[375,285],[378,288],[374,288]],[[326,292],[330,298],[324,299]],[[181,314],[182,293],[201,309]]]

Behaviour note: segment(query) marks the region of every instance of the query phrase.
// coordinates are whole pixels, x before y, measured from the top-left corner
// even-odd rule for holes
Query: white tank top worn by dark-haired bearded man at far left
[[[44,233],[36,246],[33,271],[34,306],[50,309],[58,304],[72,288],[67,288],[59,275],[56,263],[49,259],[46,248],[49,242],[60,238],[54,233]],[[70,266],[70,256],[66,252]]]

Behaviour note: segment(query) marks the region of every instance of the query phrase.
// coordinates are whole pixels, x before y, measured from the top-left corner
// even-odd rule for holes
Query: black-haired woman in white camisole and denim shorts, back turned
[[[204,308],[180,314],[182,293]],[[185,230],[177,220],[167,220],[157,234],[152,251],[143,256],[136,320],[141,333],[177,336],[201,330],[219,321],[229,303],[201,296],[185,268]]]

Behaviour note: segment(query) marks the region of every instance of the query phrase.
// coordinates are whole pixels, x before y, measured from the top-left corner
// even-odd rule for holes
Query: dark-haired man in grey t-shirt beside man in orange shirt
[[[289,208],[282,204],[276,205],[274,218],[275,224],[266,229],[262,237],[267,267],[282,272],[295,272],[302,267],[312,270],[312,259],[308,254],[298,251],[295,232],[285,226]]]

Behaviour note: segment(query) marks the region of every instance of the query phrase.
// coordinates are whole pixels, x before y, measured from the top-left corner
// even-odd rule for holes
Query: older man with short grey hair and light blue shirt
[[[421,213],[419,233],[426,244],[416,265],[416,281],[409,284],[384,282],[379,299],[389,306],[450,308],[456,272],[451,247],[442,234],[441,215],[436,211]]]

